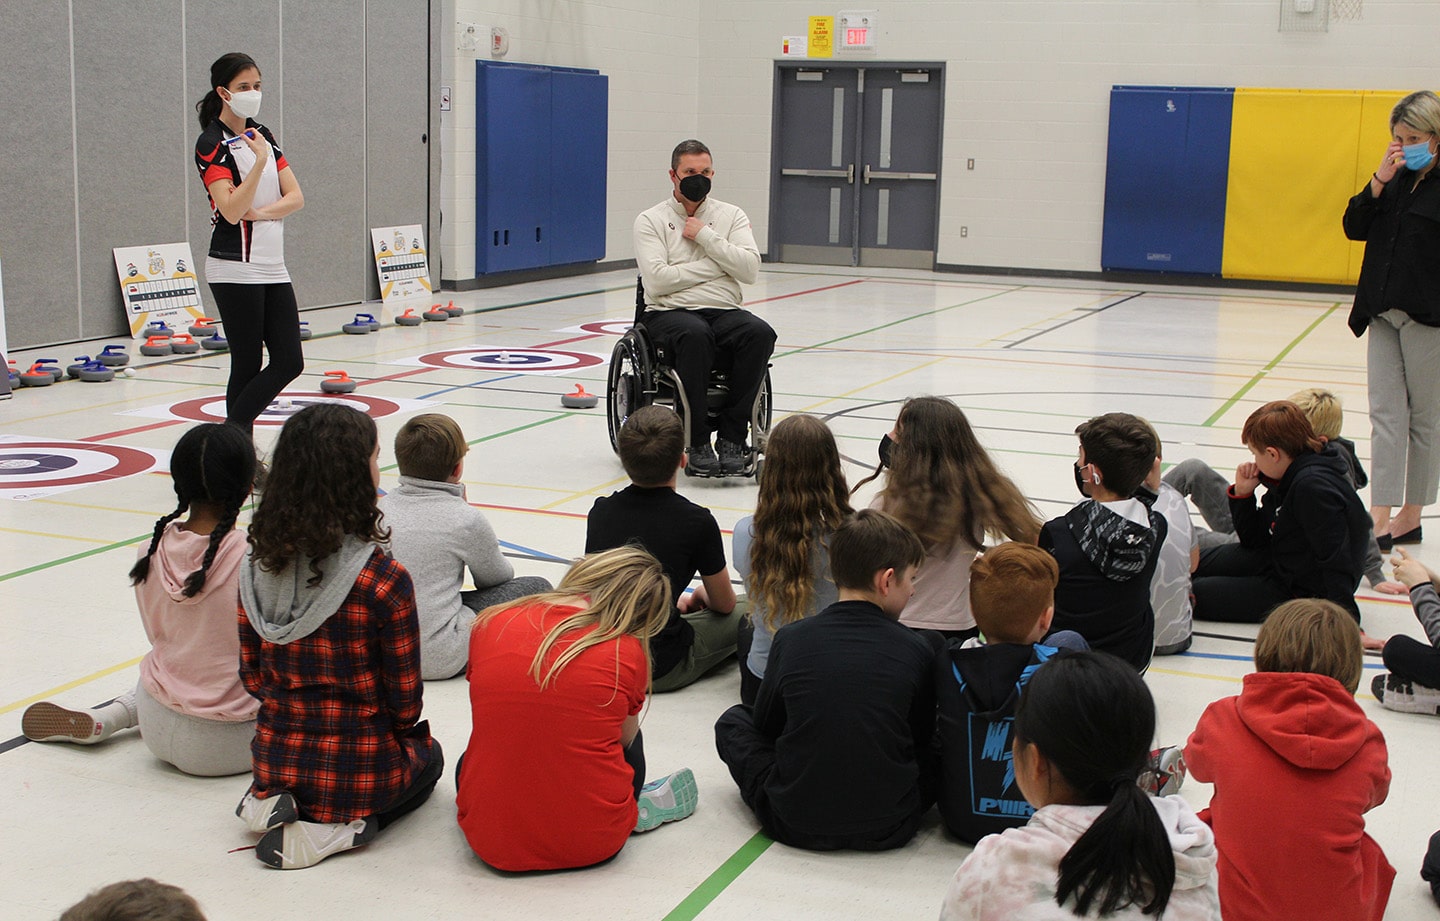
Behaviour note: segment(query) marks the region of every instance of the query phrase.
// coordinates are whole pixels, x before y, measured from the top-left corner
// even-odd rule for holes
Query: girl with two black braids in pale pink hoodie
[[[32,741],[89,745],[138,725],[156,757],[187,774],[242,774],[251,770],[259,701],[239,678],[235,614],[246,543],[235,524],[255,481],[255,446],[236,426],[194,426],[170,455],[170,478],[176,509],[156,522],[130,570],[151,643],[140,682],[94,709],[42,701],[20,727]]]

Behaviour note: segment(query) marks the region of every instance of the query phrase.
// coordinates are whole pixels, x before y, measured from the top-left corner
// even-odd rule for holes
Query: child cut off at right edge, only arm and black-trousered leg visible
[[[1410,604],[1424,627],[1430,645],[1404,633],[1391,636],[1384,652],[1388,675],[1375,675],[1369,689],[1385,709],[1404,714],[1440,715],[1440,596],[1436,574],[1420,560],[1411,560],[1400,547],[1392,557],[1395,579],[1410,586]]]

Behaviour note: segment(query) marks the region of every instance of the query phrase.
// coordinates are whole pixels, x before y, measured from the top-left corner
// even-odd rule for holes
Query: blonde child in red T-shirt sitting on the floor
[[[590,866],[632,832],[694,812],[688,768],[645,784],[645,648],[668,617],[665,573],[638,547],[585,557],[557,590],[480,616],[474,727],[455,771],[459,827],[480,859],[504,871]]]

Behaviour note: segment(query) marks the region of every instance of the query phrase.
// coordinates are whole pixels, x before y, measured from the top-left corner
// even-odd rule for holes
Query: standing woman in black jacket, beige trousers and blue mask
[[[1380,167],[1345,209],[1365,240],[1349,327],[1369,330],[1371,517],[1375,540],[1420,543],[1440,486],[1440,96],[1413,92],[1390,112]],[[1403,504],[1401,504],[1403,502]],[[1391,508],[1400,511],[1391,518]]]

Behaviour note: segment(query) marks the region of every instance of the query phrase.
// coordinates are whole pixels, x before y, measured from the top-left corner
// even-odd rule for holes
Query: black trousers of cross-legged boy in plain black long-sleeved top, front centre
[[[874,835],[812,835],[796,832],[775,815],[765,781],[775,770],[775,743],[755,728],[749,707],[737,704],[716,721],[716,751],[730,768],[730,777],[740,787],[740,799],[755,812],[765,833],[792,848],[808,850],[890,850],[904,846],[920,827],[920,816],[935,804],[935,796],[922,790],[920,809],[906,816],[891,829]],[[922,771],[923,773],[923,771]]]

